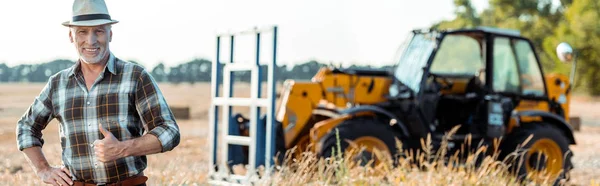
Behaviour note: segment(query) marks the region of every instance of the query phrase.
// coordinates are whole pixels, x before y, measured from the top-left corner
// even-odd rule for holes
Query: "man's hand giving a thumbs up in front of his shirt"
[[[104,139],[94,141],[94,152],[96,158],[101,162],[110,162],[121,157],[125,157],[125,145],[120,142],[112,133],[104,129],[102,124],[98,125]]]

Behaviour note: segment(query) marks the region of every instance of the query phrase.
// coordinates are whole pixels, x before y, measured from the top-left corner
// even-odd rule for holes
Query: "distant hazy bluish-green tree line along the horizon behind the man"
[[[136,61],[130,62],[140,64]],[[74,61],[64,59],[42,64],[22,64],[15,67],[8,67],[6,64],[0,64],[0,82],[46,82],[51,75],[69,68],[73,64],[75,64]],[[294,65],[291,68],[288,68],[287,65],[277,66],[275,73],[277,73],[278,81],[284,81],[286,79],[309,80],[321,67],[325,66],[327,66],[327,64],[313,60]],[[262,66],[261,68],[261,76],[266,80],[266,66]],[[372,67],[353,65],[349,68],[391,70],[392,66]],[[210,82],[212,62],[206,59],[194,59],[173,67],[167,67],[163,63],[160,63],[154,68],[147,68],[146,70],[148,70],[152,74],[152,77],[158,82]],[[249,82],[250,72],[235,72],[233,78],[235,81]]]

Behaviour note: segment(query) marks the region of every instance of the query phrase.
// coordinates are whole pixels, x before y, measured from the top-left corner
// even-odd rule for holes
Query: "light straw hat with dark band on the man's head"
[[[75,0],[73,18],[62,23],[64,26],[98,26],[118,23],[108,14],[104,0]]]

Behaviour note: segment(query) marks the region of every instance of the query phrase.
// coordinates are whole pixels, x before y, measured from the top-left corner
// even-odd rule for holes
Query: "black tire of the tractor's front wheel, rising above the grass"
[[[401,140],[401,134],[396,131],[397,129],[392,128],[389,124],[383,123],[376,118],[372,117],[357,117],[352,118],[350,120],[346,120],[339,124],[337,127],[331,130],[327,135],[323,137],[323,145],[319,150],[319,155],[324,158],[329,158],[334,155],[333,151],[335,149],[337,153],[337,136],[336,129],[339,132],[340,139],[340,149],[342,151],[342,156],[344,155],[344,151],[349,147],[349,144],[346,140],[355,140],[360,137],[375,137],[381,140],[387,148],[389,149],[390,157],[396,157],[398,149],[396,148],[396,138]],[[365,154],[361,157],[361,162],[364,163],[371,160],[372,156],[370,154]],[[365,157],[366,156],[366,157]],[[394,162],[396,162],[394,160]]]

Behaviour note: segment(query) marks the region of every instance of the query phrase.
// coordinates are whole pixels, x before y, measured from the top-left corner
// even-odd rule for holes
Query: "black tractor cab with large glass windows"
[[[416,30],[398,56],[389,94],[405,104],[391,105],[414,107],[396,115],[417,137],[460,125],[458,134],[497,138],[513,111],[556,105],[530,41],[516,31]]]

